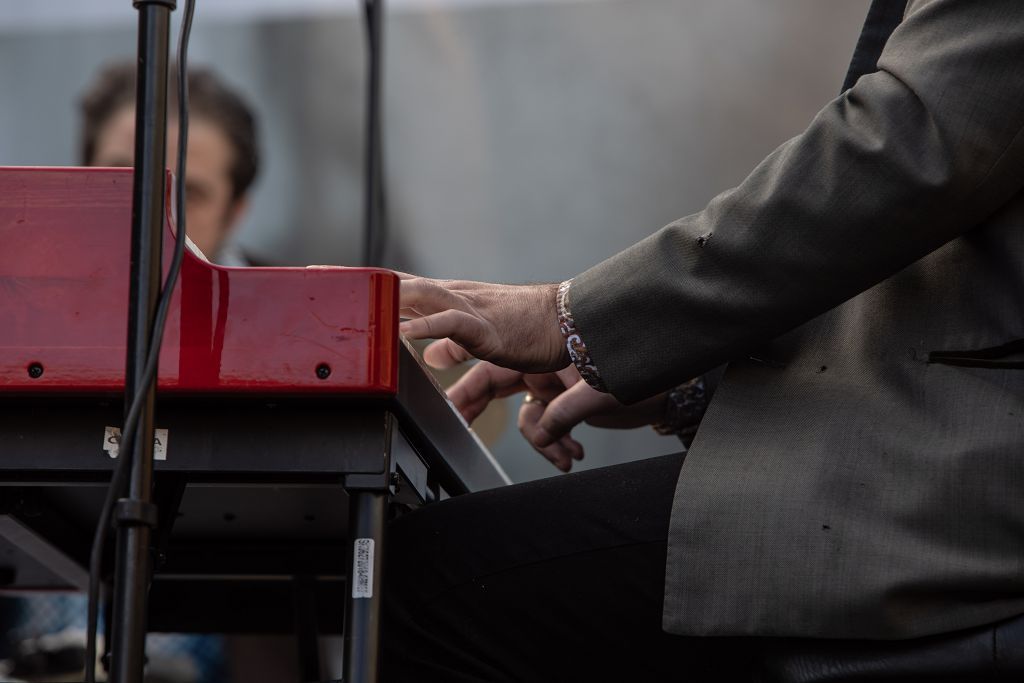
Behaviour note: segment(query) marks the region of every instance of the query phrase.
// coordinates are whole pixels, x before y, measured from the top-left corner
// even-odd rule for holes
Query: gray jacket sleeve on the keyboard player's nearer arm
[[[879,72],[738,187],[573,280],[608,389],[632,402],[738,357],[1008,202],[1024,182],[1022,65],[1020,0],[916,3]]]

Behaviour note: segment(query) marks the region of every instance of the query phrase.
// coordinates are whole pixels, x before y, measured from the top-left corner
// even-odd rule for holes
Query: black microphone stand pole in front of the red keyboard
[[[157,380],[143,386],[162,275],[166,216],[167,73],[170,18],[177,0],[133,0],[138,10],[138,77],[135,98],[135,173],[132,184],[131,285],[125,359],[125,411],[144,392],[131,458],[128,498],[115,508],[117,559],[114,578],[111,681],[141,683],[153,572],[151,536],[157,525],[153,498],[154,409]],[[88,663],[86,663],[88,665]]]

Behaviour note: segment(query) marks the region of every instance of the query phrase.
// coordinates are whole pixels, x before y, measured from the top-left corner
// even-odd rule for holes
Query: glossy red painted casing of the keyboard
[[[131,169],[0,168],[0,392],[123,388],[131,184]],[[189,252],[159,386],[393,394],[397,323],[398,281],[388,270],[225,268]],[[37,364],[42,375],[33,378]]]

